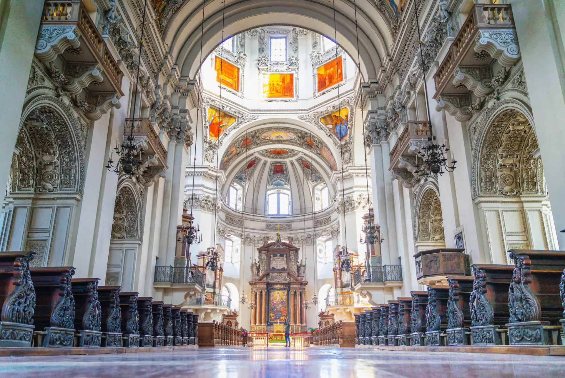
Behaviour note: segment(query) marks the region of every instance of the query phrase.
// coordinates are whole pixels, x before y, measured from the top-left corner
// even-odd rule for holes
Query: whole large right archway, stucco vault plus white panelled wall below
[[[490,262],[510,263],[509,249],[555,249],[557,236],[530,118],[514,107],[495,114],[473,166],[475,202]]]

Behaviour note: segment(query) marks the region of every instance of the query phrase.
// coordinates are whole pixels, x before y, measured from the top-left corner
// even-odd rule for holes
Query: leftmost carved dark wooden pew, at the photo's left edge
[[[31,346],[36,292],[29,274],[33,251],[0,252],[0,347]]]

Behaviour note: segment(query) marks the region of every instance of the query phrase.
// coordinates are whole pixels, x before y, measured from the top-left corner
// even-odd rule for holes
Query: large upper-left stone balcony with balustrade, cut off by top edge
[[[124,95],[121,91],[123,73],[80,0],[45,1],[35,55],[51,68],[56,58],[63,58],[64,72],[60,68],[53,69],[60,73],[60,84],[71,95],[80,94],[83,89],[88,89],[89,94],[97,93],[88,100],[94,110],[86,111],[85,106],[85,113],[92,119],[97,119],[95,116],[106,112],[110,106],[116,106],[114,94]],[[102,93],[112,95],[101,97]]]

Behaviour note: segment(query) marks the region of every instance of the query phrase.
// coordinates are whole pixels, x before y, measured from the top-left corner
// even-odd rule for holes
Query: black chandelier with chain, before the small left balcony
[[[133,108],[132,108],[132,118],[125,121],[124,129],[127,131],[129,129],[129,135],[125,136],[124,142],[118,146],[118,140],[116,140],[116,147],[114,148],[115,153],[118,155],[118,162],[114,164],[114,159],[112,158],[112,151],[110,151],[110,156],[108,157],[108,164],[106,169],[110,172],[116,172],[116,174],[123,174],[127,179],[131,179],[133,175],[143,176],[147,171],[144,168],[143,149],[141,146],[137,146],[134,143],[133,129],[135,128],[135,112],[137,103],[137,86],[139,84],[140,77],[140,66],[141,66],[141,54],[143,51],[143,36],[145,31],[145,13],[147,10],[147,0],[143,8],[143,19],[141,22],[141,38],[140,38],[140,55],[137,59],[137,74],[136,74],[136,90],[133,96]],[[141,108],[140,108],[141,111]]]

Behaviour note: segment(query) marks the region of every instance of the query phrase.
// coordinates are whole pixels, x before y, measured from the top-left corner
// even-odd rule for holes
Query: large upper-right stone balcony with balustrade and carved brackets
[[[510,5],[475,4],[434,75],[440,108],[458,120],[470,118],[469,92],[484,98],[493,92],[493,60],[511,67],[520,59]]]

